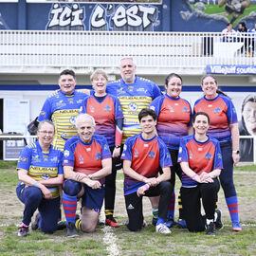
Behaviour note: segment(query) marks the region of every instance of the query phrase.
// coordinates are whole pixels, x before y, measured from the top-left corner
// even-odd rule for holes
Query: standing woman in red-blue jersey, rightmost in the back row
[[[210,117],[208,135],[219,140],[223,155],[221,186],[225,193],[232,230],[241,231],[238,216],[238,201],[233,183],[233,165],[239,162],[239,131],[237,115],[232,101],[218,90],[218,83],[211,75],[202,79],[205,96],[194,103],[194,113],[204,111]]]

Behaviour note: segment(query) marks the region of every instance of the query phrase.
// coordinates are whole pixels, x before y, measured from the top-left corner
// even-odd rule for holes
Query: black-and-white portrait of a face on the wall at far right
[[[239,122],[241,136],[256,136],[256,95],[248,95],[242,104],[242,119]],[[241,161],[253,161],[253,138],[240,139]]]

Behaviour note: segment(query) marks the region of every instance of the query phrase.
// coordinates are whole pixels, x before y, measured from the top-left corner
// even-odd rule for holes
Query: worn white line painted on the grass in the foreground
[[[106,250],[109,256],[120,255],[119,247],[117,245],[117,236],[112,232],[111,227],[105,226],[102,231],[104,232],[103,243],[106,245]]]

